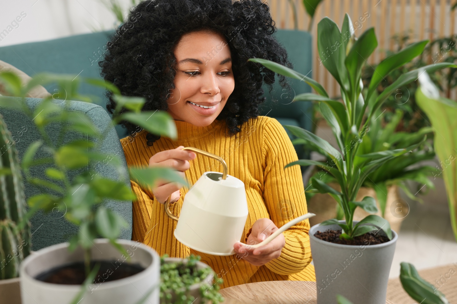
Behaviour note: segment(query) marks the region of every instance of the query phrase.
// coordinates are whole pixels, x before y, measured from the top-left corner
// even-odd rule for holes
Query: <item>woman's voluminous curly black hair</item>
[[[259,116],[259,105],[266,99],[263,82],[270,93],[275,82],[274,72],[247,60],[263,58],[293,68],[285,48],[271,35],[277,29],[270,8],[260,0],[142,1],[106,44],[99,62],[101,76],[122,95],[144,97],[143,111],[167,110],[167,94],[175,88],[175,46],[183,34],[202,30],[222,34],[230,47],[235,87],[217,119],[225,119],[229,136],[237,134],[244,122]],[[279,84],[290,89],[282,75]],[[106,108],[113,113],[112,93],[106,92],[106,97]],[[120,124],[129,134],[138,130],[126,121]],[[158,138],[148,134],[147,144]]]

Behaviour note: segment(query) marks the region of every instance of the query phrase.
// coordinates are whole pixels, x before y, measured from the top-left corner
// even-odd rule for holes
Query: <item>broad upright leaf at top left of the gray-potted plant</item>
[[[317,46],[324,67],[340,86],[349,90],[349,78],[344,65],[346,50],[340,29],[329,17],[324,17],[317,26]]]

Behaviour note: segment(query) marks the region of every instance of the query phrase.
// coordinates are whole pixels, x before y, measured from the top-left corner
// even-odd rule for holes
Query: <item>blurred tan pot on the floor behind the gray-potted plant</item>
[[[340,191],[340,185],[330,183],[329,186]],[[401,223],[405,216],[408,215],[409,206],[400,198],[399,187],[391,185],[387,188],[387,201],[384,217],[390,223],[392,230],[400,231]],[[372,196],[377,202],[376,192],[372,188],[361,187],[356,196],[356,201],[361,201],[365,196]],[[309,224],[312,226],[336,217],[336,201],[328,194],[317,193],[308,201],[308,212],[313,212],[316,216],[309,219]],[[377,202],[378,216],[381,216],[379,203]],[[370,215],[362,208],[356,208],[354,212],[354,221],[360,221],[365,216]],[[344,218],[344,217],[343,217]]]

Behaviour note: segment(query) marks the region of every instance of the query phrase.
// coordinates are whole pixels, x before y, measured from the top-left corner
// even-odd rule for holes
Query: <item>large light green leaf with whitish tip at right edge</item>
[[[452,230],[457,239],[457,104],[441,98],[426,73],[419,77],[420,87],[415,93],[416,102],[427,114],[435,130],[434,147],[442,167],[446,185]]]

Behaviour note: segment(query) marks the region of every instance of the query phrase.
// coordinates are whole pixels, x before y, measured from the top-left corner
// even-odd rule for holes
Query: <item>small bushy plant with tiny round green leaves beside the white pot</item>
[[[194,254],[186,259],[169,258],[166,253],[160,258],[161,304],[205,304],[210,300],[218,304],[224,300],[219,294],[223,279],[200,258]]]

